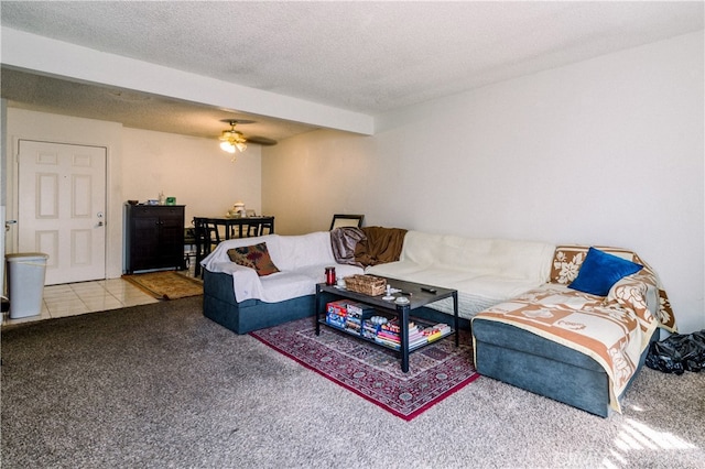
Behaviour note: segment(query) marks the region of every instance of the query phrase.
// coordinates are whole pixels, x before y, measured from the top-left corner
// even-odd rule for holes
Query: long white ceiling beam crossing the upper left
[[[1,31],[0,62],[44,75],[127,88],[226,110],[371,135],[372,116],[278,95],[30,34]]]

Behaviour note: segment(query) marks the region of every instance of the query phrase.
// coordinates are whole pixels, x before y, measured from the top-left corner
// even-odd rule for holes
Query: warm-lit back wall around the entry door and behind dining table
[[[7,218],[17,219],[17,142],[20,139],[108,150],[106,276],[122,274],[122,209],[128,199],[156,198],[160,190],[186,205],[186,225],[194,216],[225,215],[237,200],[261,211],[259,145],[231,156],[217,139],[123,128],[117,122],[79,119],[8,108]],[[8,252],[15,252],[17,229],[9,232]]]

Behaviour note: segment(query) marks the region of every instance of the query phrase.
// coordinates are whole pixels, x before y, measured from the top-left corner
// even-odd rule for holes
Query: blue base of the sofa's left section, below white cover
[[[315,295],[306,295],[279,303],[247,299],[238,303],[232,291],[232,276],[209,272],[203,275],[203,314],[207,318],[237,332],[248,334],[315,314]]]

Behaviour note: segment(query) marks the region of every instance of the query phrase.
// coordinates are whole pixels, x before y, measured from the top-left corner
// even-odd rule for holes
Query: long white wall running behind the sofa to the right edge
[[[278,232],[366,223],[630,248],[705,328],[704,37],[686,34],[263,152]]]

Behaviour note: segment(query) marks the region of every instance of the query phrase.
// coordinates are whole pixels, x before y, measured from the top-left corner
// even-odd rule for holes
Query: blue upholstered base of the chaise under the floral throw
[[[473,320],[473,336],[478,373],[600,417],[609,415],[609,379],[590,357],[521,328],[481,318]],[[658,337],[659,329],[651,341]],[[647,347],[619,399],[637,378],[648,351]]]

